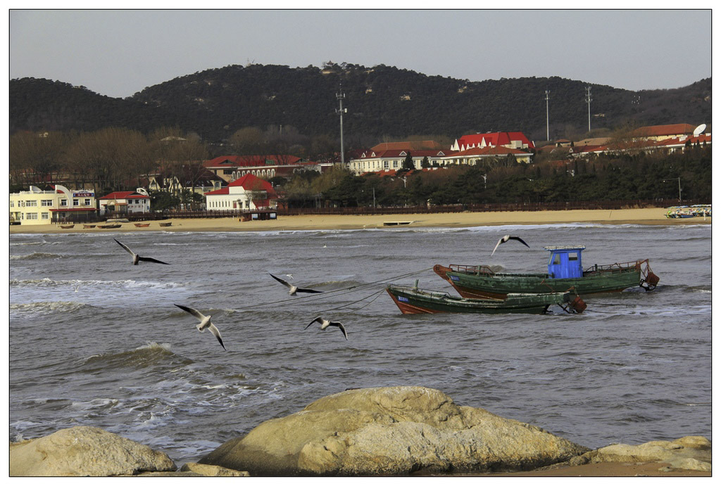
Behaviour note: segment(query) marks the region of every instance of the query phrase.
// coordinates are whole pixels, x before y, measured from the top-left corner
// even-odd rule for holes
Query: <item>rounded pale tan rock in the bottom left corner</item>
[[[119,476],[175,469],[167,454],[96,427],[66,428],[10,444],[11,476]]]

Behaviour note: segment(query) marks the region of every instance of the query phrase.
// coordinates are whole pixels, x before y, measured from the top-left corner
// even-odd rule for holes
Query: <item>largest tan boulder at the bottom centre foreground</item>
[[[261,423],[200,459],[252,475],[527,470],[588,451],[424,387],[348,390]]]

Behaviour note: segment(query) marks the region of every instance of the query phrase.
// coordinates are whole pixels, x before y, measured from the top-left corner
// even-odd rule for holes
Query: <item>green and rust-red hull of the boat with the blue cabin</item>
[[[570,279],[553,279],[548,274],[496,274],[476,271],[481,267],[435,265],[433,271],[449,282],[461,297],[502,299],[513,293],[565,292],[571,287],[580,296],[622,292],[642,284],[643,261],[627,266],[603,266],[583,272],[583,276]],[[625,264],[624,264],[625,265]],[[650,274],[653,275],[653,274]],[[654,276],[655,277],[655,276]],[[658,277],[655,277],[655,284]]]

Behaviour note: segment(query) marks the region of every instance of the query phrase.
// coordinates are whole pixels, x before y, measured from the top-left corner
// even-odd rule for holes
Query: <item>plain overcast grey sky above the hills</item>
[[[10,78],[125,97],[234,64],[385,64],[640,90],[711,76],[705,10],[12,10]]]

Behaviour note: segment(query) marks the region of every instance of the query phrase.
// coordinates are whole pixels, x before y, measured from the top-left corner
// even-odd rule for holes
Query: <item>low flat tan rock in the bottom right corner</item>
[[[590,451],[581,462],[664,462],[671,469],[711,471],[711,442],[701,436],[686,436],[675,441],[651,441],[637,446],[612,444]]]

